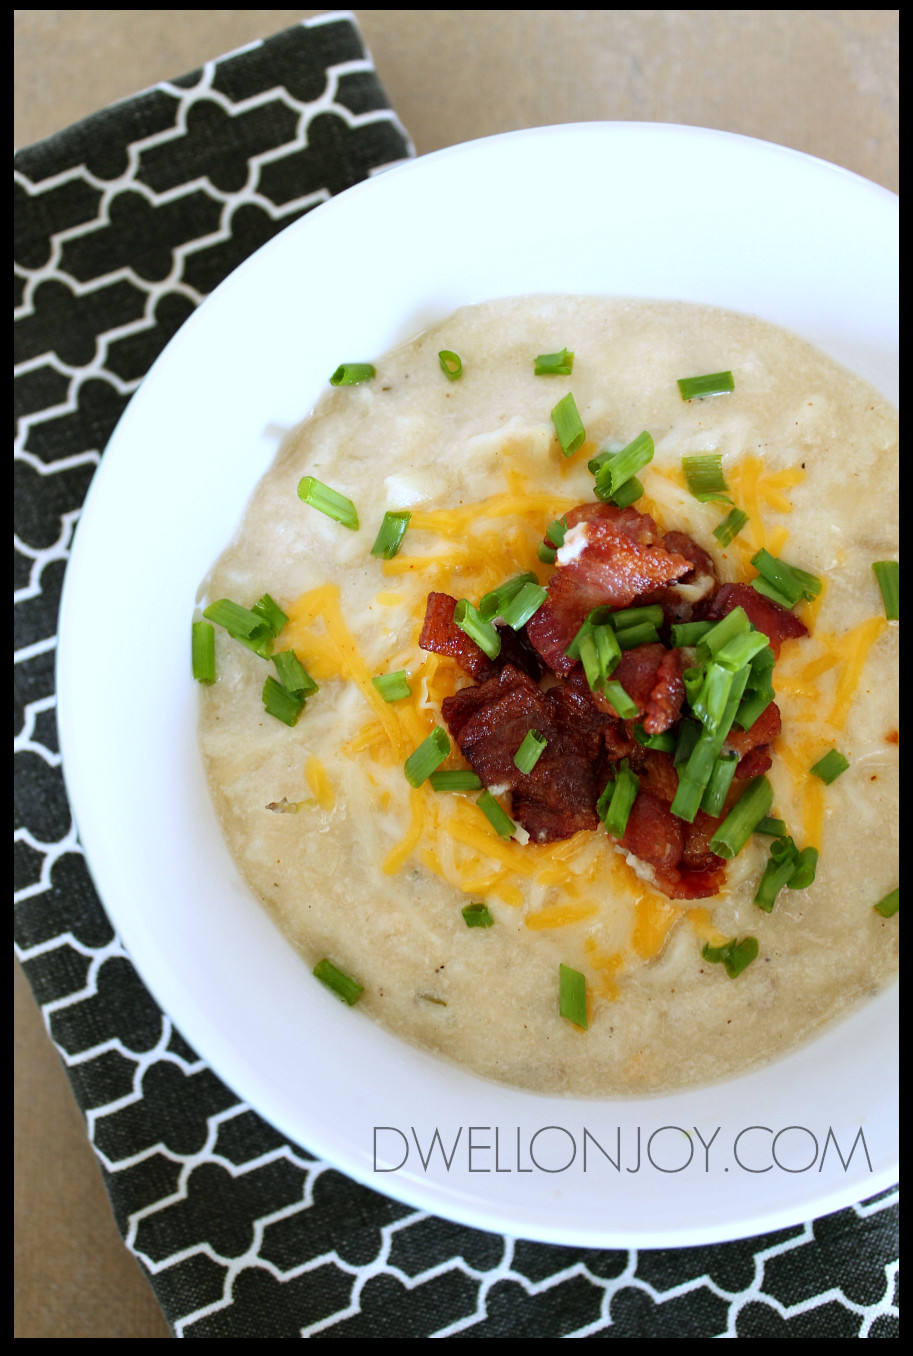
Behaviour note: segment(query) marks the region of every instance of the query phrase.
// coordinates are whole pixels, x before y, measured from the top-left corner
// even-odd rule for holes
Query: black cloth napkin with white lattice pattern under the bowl
[[[326,14],[16,156],[16,944],[118,1227],[179,1337],[894,1337],[893,1192],[638,1253],[480,1233],[349,1181],[197,1058],[95,895],[54,724],[92,472],[206,293],[411,153],[351,15]]]

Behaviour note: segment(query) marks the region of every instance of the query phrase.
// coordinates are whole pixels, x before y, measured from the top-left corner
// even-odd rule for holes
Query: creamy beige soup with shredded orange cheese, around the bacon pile
[[[567,347],[567,376],[533,359]],[[448,380],[438,353],[460,355]],[[341,354],[338,358],[365,358]],[[199,734],[228,846],[303,955],[362,986],[358,1009],[482,1075],[548,1093],[606,1096],[711,1082],[806,1041],[875,994],[897,964],[897,624],[872,561],[897,555],[895,412],[806,342],[758,320],[680,302],[532,297],[459,311],[328,389],[284,442],[205,599],[269,593],[319,685],[297,724],[260,700],[271,662],[217,629],[218,678]],[[677,378],[731,370],[731,393],[682,400]],[[566,457],[551,411],[572,393],[586,431]],[[754,903],[771,838],[753,834],[723,888],[670,899],[604,829],[502,838],[479,792],[410,786],[404,759],[441,702],[472,679],[419,648],[429,593],[479,598],[518,571],[547,583],[548,525],[591,503],[590,460],[647,430],[654,460],[635,509],[684,532],[720,580],[756,578],[761,548],[819,578],[796,607],[773,686],[781,731],[771,816],[819,861],[807,888]],[[749,515],[699,502],[682,456],[722,454]],[[313,476],[358,511],[351,530],[297,495]],[[396,556],[370,549],[388,510],[412,517]],[[403,670],[387,702],[372,677]],[[825,784],[830,749],[849,762]],[[444,767],[465,767],[456,740]],[[505,801],[510,810],[509,800]],[[463,910],[484,903],[491,926]],[[737,978],[703,948],[757,938]],[[587,1029],[560,1016],[559,965],[585,976]],[[278,1014],[277,1014],[278,1016]],[[361,1020],[341,1006],[339,1021]]]

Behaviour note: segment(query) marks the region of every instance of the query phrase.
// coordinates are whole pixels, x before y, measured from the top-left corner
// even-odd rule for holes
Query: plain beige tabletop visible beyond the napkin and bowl
[[[317,9],[18,9],[15,145]],[[517,127],[680,122],[897,191],[897,9],[360,9],[419,155]],[[16,968],[15,1337],[170,1337]]]

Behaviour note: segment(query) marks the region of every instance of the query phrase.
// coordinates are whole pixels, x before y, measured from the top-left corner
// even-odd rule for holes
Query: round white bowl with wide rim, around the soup
[[[501,1088],[343,1009],[225,850],[189,677],[199,582],[277,427],[308,412],[341,355],[378,355],[499,296],[663,297],[772,320],[895,400],[897,263],[897,199],[834,165],[693,127],[543,127],[438,152],[317,207],[155,363],[95,475],[66,572],[66,785],[142,979],[285,1135],[412,1205],[590,1246],[745,1237],[897,1180],[893,991],[760,1073],[625,1101]],[[374,1170],[376,1127],[389,1127],[377,1136],[389,1170]],[[418,1153],[435,1128],[448,1151],[459,1132],[449,1168]],[[593,1139],[616,1159],[620,1143],[619,1166]]]

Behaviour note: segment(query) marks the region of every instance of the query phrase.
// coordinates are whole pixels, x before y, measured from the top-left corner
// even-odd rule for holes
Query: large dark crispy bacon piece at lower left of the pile
[[[570,838],[598,826],[598,763],[585,742],[556,719],[556,706],[524,673],[506,664],[479,687],[445,697],[442,715],[469,766],[486,786],[513,792],[514,819],[536,842]],[[548,740],[530,773],[514,763],[525,735]]]

